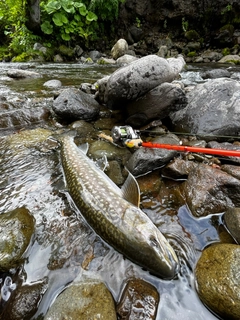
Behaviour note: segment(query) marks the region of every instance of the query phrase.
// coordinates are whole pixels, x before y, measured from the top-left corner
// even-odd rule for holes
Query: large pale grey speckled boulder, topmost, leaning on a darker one
[[[143,96],[177,76],[172,64],[157,55],[148,55],[116,70],[108,79],[104,102],[110,109],[122,109],[127,102]],[[102,88],[100,88],[101,91]]]

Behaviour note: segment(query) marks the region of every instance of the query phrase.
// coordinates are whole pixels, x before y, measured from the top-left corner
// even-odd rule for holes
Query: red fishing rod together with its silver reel
[[[240,157],[240,150],[226,150],[216,148],[203,148],[196,146],[183,146],[165,143],[144,142],[140,138],[140,131],[134,130],[130,126],[115,126],[112,129],[112,138],[114,142],[122,141],[127,147],[141,146],[152,149],[168,149],[180,152],[195,152],[225,157]]]

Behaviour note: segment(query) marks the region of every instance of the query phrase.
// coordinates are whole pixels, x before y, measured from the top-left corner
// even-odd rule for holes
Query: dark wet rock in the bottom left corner
[[[12,292],[1,319],[30,320],[37,312],[39,302],[47,290],[47,278],[24,284]]]

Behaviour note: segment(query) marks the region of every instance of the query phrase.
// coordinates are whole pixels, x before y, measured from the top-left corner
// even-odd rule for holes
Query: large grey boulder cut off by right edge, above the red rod
[[[240,83],[219,78],[198,84],[188,105],[170,115],[174,130],[194,134],[234,135],[240,131]]]

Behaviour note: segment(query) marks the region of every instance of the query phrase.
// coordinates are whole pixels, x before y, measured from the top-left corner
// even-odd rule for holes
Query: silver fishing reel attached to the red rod
[[[113,142],[122,142],[129,148],[138,147],[142,141],[140,132],[133,130],[130,126],[115,126],[112,128],[111,135]]]

